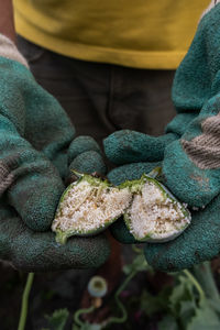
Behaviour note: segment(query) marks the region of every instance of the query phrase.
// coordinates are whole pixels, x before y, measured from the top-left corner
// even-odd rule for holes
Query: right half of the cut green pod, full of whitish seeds
[[[124,221],[138,241],[166,242],[178,237],[190,223],[189,211],[161,183],[143,175],[127,182],[133,200],[124,212]]]

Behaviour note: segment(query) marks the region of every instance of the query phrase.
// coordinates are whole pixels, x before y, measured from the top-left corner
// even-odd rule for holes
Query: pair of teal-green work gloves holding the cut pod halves
[[[166,134],[152,138],[120,131],[105,141],[120,165],[112,183],[140,177],[162,165],[164,184],[188,204],[193,221],[174,241],[145,244],[155,268],[177,271],[220,251],[220,4],[201,19],[177,69],[173,100],[176,118]],[[9,58],[7,58],[9,57]],[[165,111],[166,109],[164,109]],[[34,80],[14,45],[0,37],[0,258],[24,271],[99,266],[108,257],[105,235],[73,238],[58,246],[51,223],[68,167],[105,172],[98,145],[76,138],[57,101]],[[134,240],[123,222],[113,235]]]

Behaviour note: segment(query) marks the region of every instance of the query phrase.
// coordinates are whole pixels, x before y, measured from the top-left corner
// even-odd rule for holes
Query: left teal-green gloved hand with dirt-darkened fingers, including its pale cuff
[[[73,239],[58,248],[51,233],[68,165],[105,170],[98,146],[88,136],[74,140],[65,111],[25,65],[0,35],[0,258],[32,271],[98,266],[109,252],[105,238]]]

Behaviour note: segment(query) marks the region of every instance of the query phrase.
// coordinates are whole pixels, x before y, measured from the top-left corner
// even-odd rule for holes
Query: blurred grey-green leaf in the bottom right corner
[[[216,311],[211,309],[208,300],[204,300],[196,310],[195,317],[189,322],[187,330],[219,330],[220,319]]]

